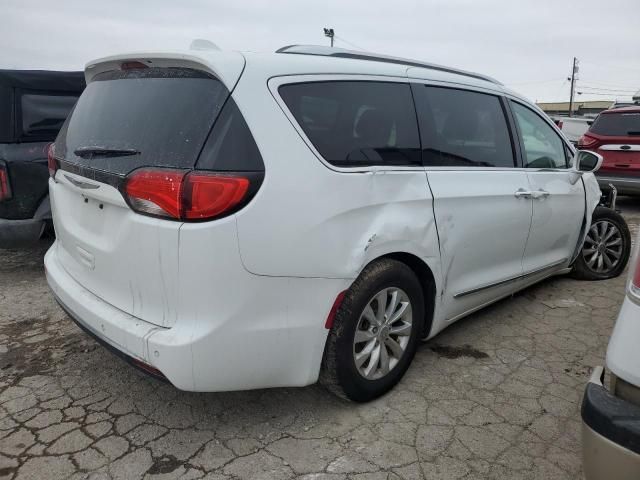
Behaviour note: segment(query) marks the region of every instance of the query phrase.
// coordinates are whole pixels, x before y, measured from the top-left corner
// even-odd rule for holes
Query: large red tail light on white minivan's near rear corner
[[[182,221],[228,215],[249,200],[248,176],[202,171],[140,169],[125,182],[129,205],[139,213]]]

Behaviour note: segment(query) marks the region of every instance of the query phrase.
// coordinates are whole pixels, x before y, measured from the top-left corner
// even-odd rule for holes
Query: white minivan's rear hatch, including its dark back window
[[[56,140],[59,261],[86,289],[147,322],[176,322],[182,223],[158,218],[166,212],[145,198],[134,211],[127,176],[191,171],[229,95],[202,70],[124,62],[93,77]],[[150,176],[141,178],[138,188]],[[169,189],[156,192],[156,203],[179,188],[172,178],[164,176]]]

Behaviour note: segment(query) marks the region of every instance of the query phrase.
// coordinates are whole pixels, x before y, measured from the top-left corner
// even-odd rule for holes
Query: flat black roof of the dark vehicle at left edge
[[[83,72],[53,70],[0,70],[0,85],[78,93],[85,87]]]

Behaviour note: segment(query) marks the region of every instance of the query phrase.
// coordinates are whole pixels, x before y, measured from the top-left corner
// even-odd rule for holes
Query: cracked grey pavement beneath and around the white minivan
[[[623,202],[634,232],[640,204]],[[0,479],[581,478],[579,405],[623,277],[554,278],[478,312],[357,405],[319,386],[196,394],[146,377],[55,304],[49,244],[0,251]]]

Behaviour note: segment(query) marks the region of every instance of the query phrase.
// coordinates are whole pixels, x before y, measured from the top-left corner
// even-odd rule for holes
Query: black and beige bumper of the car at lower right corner
[[[586,480],[640,478],[640,407],[615,397],[597,367],[582,400],[582,454]]]

